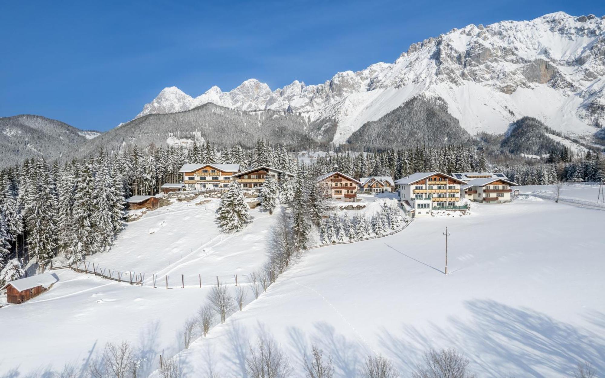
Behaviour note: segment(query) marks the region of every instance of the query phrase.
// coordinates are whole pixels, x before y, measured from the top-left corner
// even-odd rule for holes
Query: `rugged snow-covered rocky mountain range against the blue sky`
[[[605,124],[605,16],[546,14],[532,21],[468,25],[414,43],[394,63],[338,72],[318,85],[292,82],[272,91],[256,79],[198,97],[163,89],[137,115],[186,111],[215,103],[245,111],[299,112],[332,119],[345,143],[410,98],[441,97],[469,133],[503,133],[523,116],[574,136]]]

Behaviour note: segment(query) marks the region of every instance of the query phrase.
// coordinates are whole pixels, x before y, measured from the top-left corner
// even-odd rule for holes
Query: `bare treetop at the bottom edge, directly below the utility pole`
[[[420,367],[414,378],[475,378],[469,372],[468,359],[454,349],[430,350],[424,354],[424,366]]]

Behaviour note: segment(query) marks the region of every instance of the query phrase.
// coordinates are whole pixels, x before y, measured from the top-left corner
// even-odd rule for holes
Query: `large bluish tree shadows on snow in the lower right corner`
[[[595,333],[557,321],[526,308],[506,306],[492,300],[466,301],[471,318],[450,318],[451,327],[430,325],[429,338],[415,327],[403,325],[399,335],[382,329],[379,340],[398,357],[402,371],[420,362],[430,348],[454,347],[473,363],[480,375],[546,377],[547,371],[571,376],[580,362],[590,362],[605,371],[605,315],[590,314]],[[438,336],[434,336],[438,335]],[[547,374],[547,375],[544,375]]]

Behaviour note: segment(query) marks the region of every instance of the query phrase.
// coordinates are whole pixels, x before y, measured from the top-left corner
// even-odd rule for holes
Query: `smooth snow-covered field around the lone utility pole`
[[[296,377],[311,344],[332,356],[337,377],[355,376],[368,353],[408,376],[425,350],[445,347],[462,351],[479,376],[565,377],[583,360],[603,372],[603,225],[601,210],[518,200],[314,249],[180,362],[189,376],[210,368],[246,376],[248,343],[264,332]]]

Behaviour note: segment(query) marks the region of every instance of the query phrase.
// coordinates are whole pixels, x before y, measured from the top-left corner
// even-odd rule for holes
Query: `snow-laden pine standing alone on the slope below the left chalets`
[[[252,221],[248,210],[249,207],[240,184],[232,181],[228,190],[223,192],[220,205],[218,205],[218,225],[221,226],[223,232],[240,231]]]

